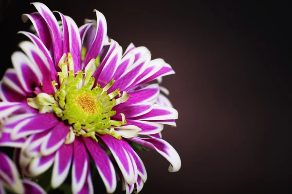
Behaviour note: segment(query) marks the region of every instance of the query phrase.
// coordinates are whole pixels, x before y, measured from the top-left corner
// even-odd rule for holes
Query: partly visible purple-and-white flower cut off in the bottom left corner
[[[4,188],[16,194],[45,194],[37,183],[21,180],[15,163],[2,152],[0,161],[0,194],[5,194]]]

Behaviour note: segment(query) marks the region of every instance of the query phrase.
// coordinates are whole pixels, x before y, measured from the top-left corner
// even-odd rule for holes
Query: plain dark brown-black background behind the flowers
[[[41,2],[71,16],[78,26],[84,18],[95,19],[92,11],[99,10],[106,16],[110,38],[124,50],[130,42],[146,46],[152,59],[163,58],[176,71],[162,85],[170,90],[179,119],[177,128],[164,128],[163,138],[180,154],[182,168],[169,173],[169,163],[158,153],[139,152],[148,173],[141,194],[290,189],[288,3]],[[35,11],[26,0],[1,1],[1,76],[24,39],[16,33],[29,30],[21,14]]]

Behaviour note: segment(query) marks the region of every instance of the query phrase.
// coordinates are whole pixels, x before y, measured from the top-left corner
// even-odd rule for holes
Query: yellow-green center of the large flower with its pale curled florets
[[[75,136],[92,137],[97,141],[95,133],[108,133],[121,139],[113,127],[125,125],[125,116],[121,113],[122,121],[111,120],[110,117],[116,113],[111,109],[117,103],[125,102],[129,96],[125,92],[121,96],[119,89],[108,94],[107,91],[114,83],[113,80],[104,88],[101,88],[99,84],[93,88],[92,74],[96,70],[95,64],[93,59],[87,65],[88,68],[85,68],[85,72],[74,73],[71,54],[68,53],[68,57],[64,54],[59,62],[61,71],[57,73],[60,83],[58,89],[56,88],[58,84],[52,81],[55,95],[39,93],[37,97],[27,99],[28,105],[38,109],[39,113],[55,113],[57,117],[71,126],[71,133]],[[119,98],[115,99],[116,96]]]

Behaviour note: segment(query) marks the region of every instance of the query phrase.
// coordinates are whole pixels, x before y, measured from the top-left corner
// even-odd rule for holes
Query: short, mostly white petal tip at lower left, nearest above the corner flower
[[[55,159],[55,153],[48,156],[39,156],[34,158],[28,166],[28,172],[30,175],[38,176],[48,170]]]

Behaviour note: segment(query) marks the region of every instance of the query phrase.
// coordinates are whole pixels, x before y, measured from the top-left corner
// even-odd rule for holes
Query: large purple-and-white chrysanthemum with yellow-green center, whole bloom
[[[108,193],[117,175],[127,193],[141,191],[147,174],[132,146],[157,150],[176,172],[181,160],[161,139],[166,125],[175,126],[178,112],[165,91],[150,81],[173,74],[162,59],[151,60],[145,47],[130,44],[124,54],[107,38],[105,17],[87,20],[79,29],[69,16],[33,3],[30,19],[37,34],[19,32],[32,42],[19,44],[0,82],[0,118],[5,118],[0,146],[21,147],[21,174],[36,177],[53,165],[51,185],[59,187],[72,164],[73,193],[92,193],[91,158]],[[141,135],[145,135],[141,137]],[[112,159],[106,150],[112,154]]]

